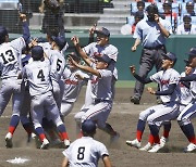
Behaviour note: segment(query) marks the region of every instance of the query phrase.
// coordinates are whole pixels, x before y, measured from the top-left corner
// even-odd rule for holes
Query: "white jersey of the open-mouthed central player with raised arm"
[[[88,54],[90,57],[95,59],[95,55],[108,55],[111,60],[118,60],[118,49],[112,44],[107,44],[101,47],[97,44],[97,42],[89,43],[88,46],[83,48],[83,51]]]

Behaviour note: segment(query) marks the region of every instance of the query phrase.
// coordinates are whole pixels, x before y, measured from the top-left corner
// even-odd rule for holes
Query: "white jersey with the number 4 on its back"
[[[50,62],[34,61],[23,68],[23,77],[29,82],[29,94],[39,95],[52,90],[50,81]]]

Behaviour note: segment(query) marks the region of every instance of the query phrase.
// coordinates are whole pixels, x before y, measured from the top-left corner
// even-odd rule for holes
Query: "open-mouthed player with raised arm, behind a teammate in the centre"
[[[94,34],[97,34],[96,42],[93,42]],[[93,61],[95,61],[96,55],[101,56],[101,55],[106,54],[112,60],[110,63],[110,67],[112,67],[111,70],[113,73],[112,82],[111,82],[112,99],[113,99],[114,98],[114,84],[118,79],[118,70],[115,68],[115,62],[118,59],[118,49],[114,46],[109,43],[110,31],[107,28],[102,27],[100,29],[96,29],[96,26],[93,26],[89,30],[89,35],[90,35],[89,42],[91,42],[91,43],[89,43],[88,46],[83,48],[83,50],[78,50],[78,48],[76,47],[77,52],[83,57],[85,63],[89,66],[90,66],[90,64],[88,64],[89,62],[86,60],[88,60],[88,57],[90,57]],[[78,42],[77,38],[74,37],[73,39],[76,42]],[[81,123],[81,117],[82,117],[83,113],[88,111],[88,108],[94,105],[94,97],[91,95],[93,94],[91,82],[93,82],[93,80],[95,80],[94,77],[95,76],[91,76],[91,79],[88,80],[88,84],[87,84],[85,104],[83,105],[81,112],[75,115],[75,120],[76,120],[77,125],[79,125],[79,123]],[[108,125],[108,127],[110,127],[110,126]]]

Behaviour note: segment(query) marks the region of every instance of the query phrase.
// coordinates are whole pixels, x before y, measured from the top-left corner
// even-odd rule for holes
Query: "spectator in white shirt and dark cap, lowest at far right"
[[[192,24],[192,16],[184,15],[183,24],[177,26],[177,35],[196,35],[196,25]]]

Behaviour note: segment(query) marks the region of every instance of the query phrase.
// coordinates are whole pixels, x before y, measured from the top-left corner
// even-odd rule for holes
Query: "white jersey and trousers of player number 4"
[[[47,115],[52,118],[57,126],[62,125],[63,123],[52,94],[50,62],[48,60],[42,62],[34,61],[24,67],[23,75],[27,78],[29,85],[30,113],[35,129],[41,127],[44,111],[47,112]]]

